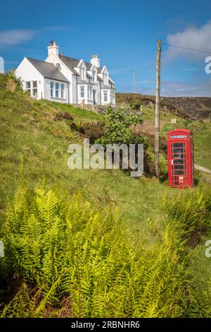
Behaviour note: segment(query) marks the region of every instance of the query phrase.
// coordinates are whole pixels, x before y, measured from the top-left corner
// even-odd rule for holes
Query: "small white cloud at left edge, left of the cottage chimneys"
[[[37,30],[13,29],[0,31],[0,45],[19,45],[28,40],[32,40]]]

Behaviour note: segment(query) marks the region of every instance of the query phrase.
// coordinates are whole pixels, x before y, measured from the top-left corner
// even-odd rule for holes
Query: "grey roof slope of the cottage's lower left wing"
[[[51,78],[57,81],[68,82],[67,78],[65,78],[65,76],[63,76],[63,74],[53,64],[28,57],[27,59],[45,78]]]

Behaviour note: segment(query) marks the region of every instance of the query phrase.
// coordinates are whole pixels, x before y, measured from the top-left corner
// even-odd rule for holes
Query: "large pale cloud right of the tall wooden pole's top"
[[[189,26],[182,32],[169,33],[167,35],[167,44],[211,52],[211,21],[200,28]],[[185,58],[193,61],[205,59],[207,56],[203,52],[194,52],[177,47],[168,47],[164,53],[168,60]]]

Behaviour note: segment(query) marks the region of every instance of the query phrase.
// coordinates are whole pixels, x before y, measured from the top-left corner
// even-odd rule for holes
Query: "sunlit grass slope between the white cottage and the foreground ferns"
[[[79,190],[94,204],[113,203],[120,206],[120,213],[130,226],[143,226],[147,218],[162,218],[158,207],[163,191],[170,189],[156,179],[140,181],[120,170],[69,170],[68,145],[80,142],[81,138],[66,122],[53,119],[58,109],[68,109],[73,117],[77,114],[78,118],[84,112],[71,106],[31,100],[26,95],[10,91],[1,92],[2,211],[6,201],[24,181],[30,186],[45,182],[67,194]],[[89,121],[97,116],[87,111],[80,119]]]

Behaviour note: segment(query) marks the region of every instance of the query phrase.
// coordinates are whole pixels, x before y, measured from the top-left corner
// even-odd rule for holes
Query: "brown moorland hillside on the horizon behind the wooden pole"
[[[143,105],[155,105],[155,96],[138,93],[117,93],[117,104],[122,102],[142,102]],[[209,119],[211,97],[161,97],[161,107],[165,112],[179,114],[186,119]]]

